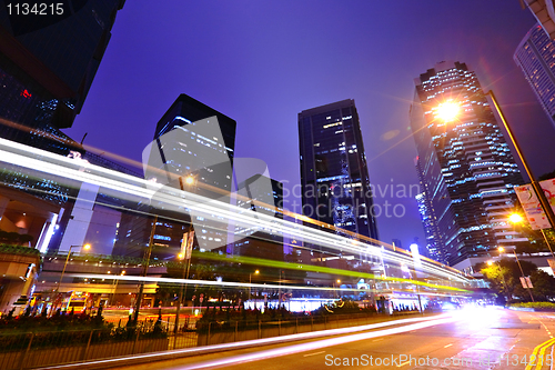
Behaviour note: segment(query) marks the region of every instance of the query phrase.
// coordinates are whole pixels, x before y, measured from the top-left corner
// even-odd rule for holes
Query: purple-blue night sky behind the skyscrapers
[[[424,238],[415,193],[392,198],[391,184],[396,192],[417,183],[408,109],[414,78],[436,62],[476,71],[536,177],[555,170],[555,129],[513,61],[534,22],[518,0],[127,1],[83,110],[64,132],[77,141],[88,132],[84,144],[107,158],[140,161],[159,119],[186,93],[236,120],[235,158],[264,160],[293,191],[297,113],[354,99],[382,207],[380,239],[407,247]],[[289,200],[285,208],[299,212]],[[390,208],[387,217],[385,201],[404,216]]]

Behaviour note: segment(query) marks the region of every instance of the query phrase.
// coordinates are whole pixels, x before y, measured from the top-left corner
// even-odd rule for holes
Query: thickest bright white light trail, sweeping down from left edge
[[[383,257],[387,262],[405,263],[406,266],[415,264],[412,256],[407,252],[382,249],[381,247],[385,244],[380,241],[375,241],[380,246],[373,246],[287,220],[281,220],[270,214],[245,212],[243,208],[238,206],[226,204],[195,193],[181,191],[9,140],[0,139],[0,158],[2,162],[26,168],[31,173],[39,172],[47,173],[49,178],[56,177],[57,181],[64,186],[75,187],[75,181],[88,182],[101,187],[103,193],[123,200],[150,202],[151,206],[161,210],[174,211],[181,214],[195,212],[195,214],[202,214],[206,220],[215,224],[221,224],[222,230],[228,229],[226,220],[233,220],[236,226],[242,228],[268,228],[337,251],[341,254],[347,252],[355,256]],[[295,218],[302,219],[303,216],[299,214]],[[324,224],[321,227],[330,228],[330,226]],[[414,270],[463,284],[468,284],[471,281],[461,272],[426,259],[422,259],[422,267],[417,269],[415,267]],[[400,278],[396,280],[400,280]]]

